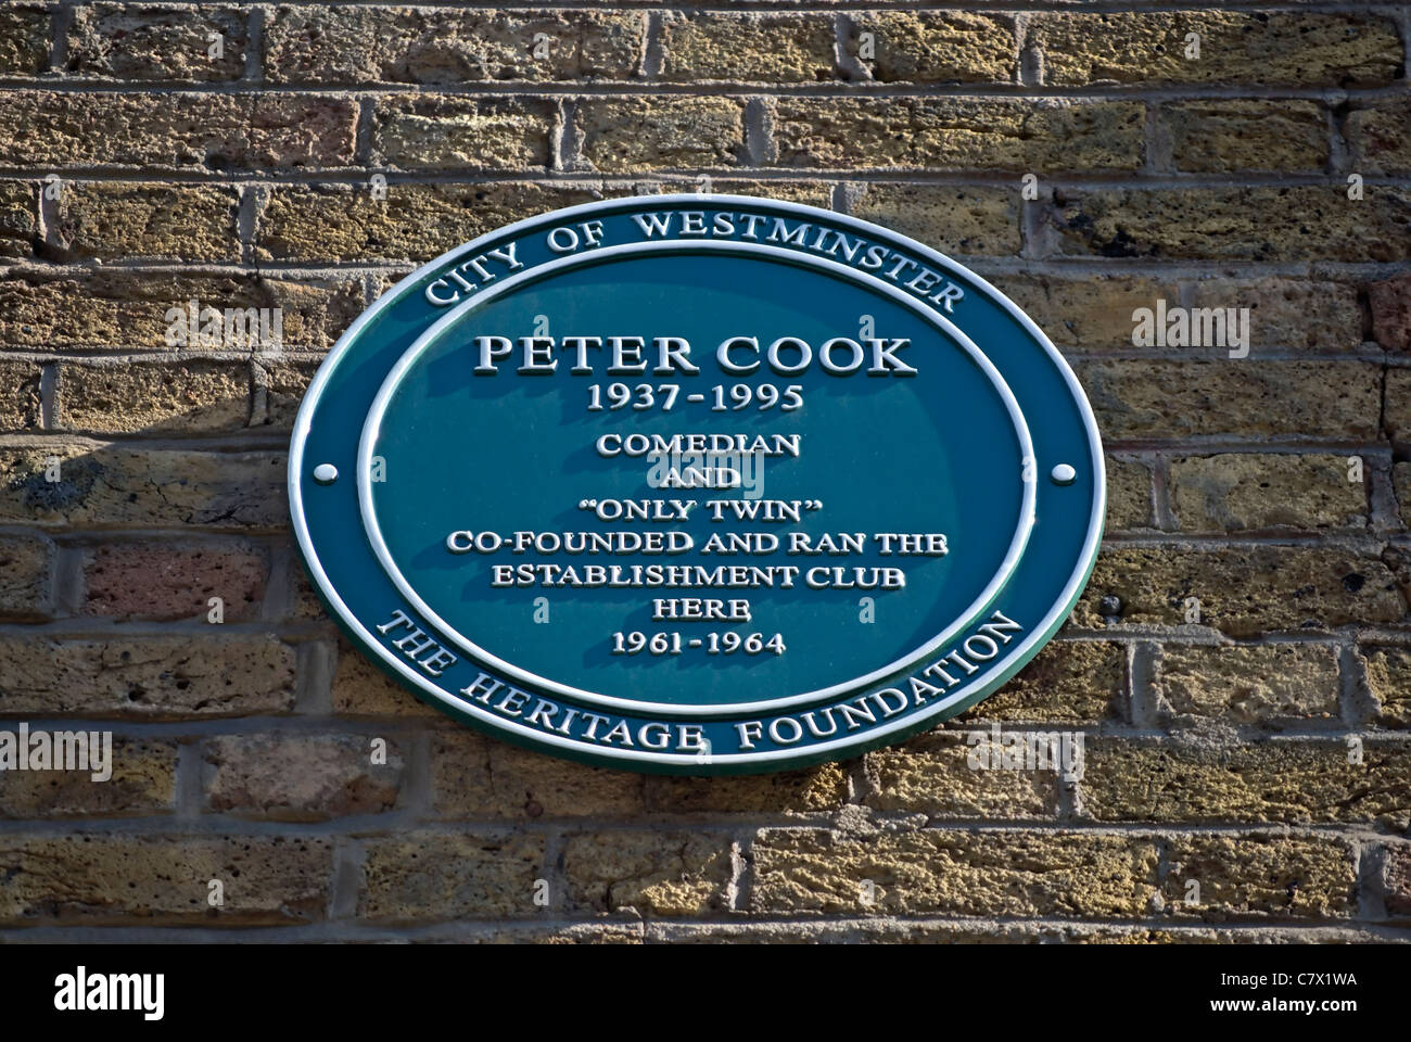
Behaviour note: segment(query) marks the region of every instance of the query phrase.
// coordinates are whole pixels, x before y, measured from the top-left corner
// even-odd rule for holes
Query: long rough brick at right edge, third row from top
[[[1411,257],[1411,191],[1369,185],[1112,188],[1057,193],[1050,222],[1072,256],[1250,261]]]

